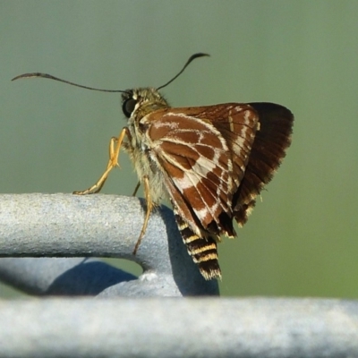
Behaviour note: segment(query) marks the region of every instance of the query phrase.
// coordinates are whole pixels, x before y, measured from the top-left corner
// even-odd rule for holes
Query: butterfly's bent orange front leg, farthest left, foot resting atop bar
[[[118,138],[113,137],[109,142],[109,160],[107,164],[107,168],[103,175],[98,179],[98,182],[92,185],[89,189],[86,189],[81,192],[73,192],[73,194],[77,195],[86,195],[86,194],[94,194],[100,192],[104,183],[106,183],[109,172],[115,167],[119,166],[118,164],[118,156],[119,150],[121,149],[122,142],[124,141],[124,136],[129,135],[128,129],[124,127],[122,132],[119,134]]]

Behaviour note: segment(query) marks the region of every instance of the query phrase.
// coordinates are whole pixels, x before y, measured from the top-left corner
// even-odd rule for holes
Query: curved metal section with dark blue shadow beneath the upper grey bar
[[[33,295],[100,295],[137,278],[92,258],[0,259],[0,279]]]

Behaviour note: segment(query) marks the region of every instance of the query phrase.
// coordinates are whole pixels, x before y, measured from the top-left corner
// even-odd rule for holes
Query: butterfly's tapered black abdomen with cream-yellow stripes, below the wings
[[[209,234],[206,237],[195,234],[188,224],[183,221],[183,218],[175,208],[174,212],[183,243],[185,243],[189,255],[192,256],[192,260],[198,265],[201,275],[208,280],[221,278],[221,270],[217,257],[217,241],[215,238]]]

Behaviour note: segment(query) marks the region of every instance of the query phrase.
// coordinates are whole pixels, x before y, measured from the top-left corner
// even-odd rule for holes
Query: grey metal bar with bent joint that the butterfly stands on
[[[205,281],[189,257],[166,207],[151,215],[140,249],[132,254],[144,209],[141,200],[115,195],[0,195],[0,257],[6,258],[0,259],[0,279],[31,294],[218,294],[217,281]],[[133,280],[83,257],[134,260],[143,274]]]

